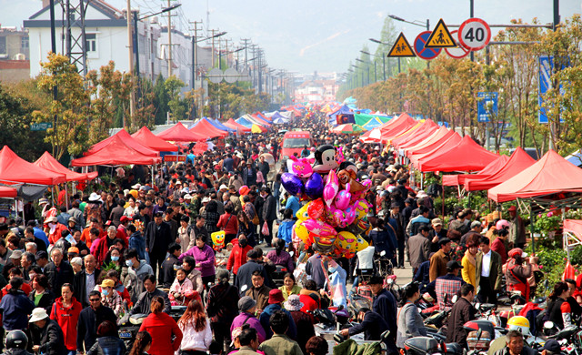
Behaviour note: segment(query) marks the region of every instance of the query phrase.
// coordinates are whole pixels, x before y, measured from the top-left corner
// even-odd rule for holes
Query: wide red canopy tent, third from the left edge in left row
[[[152,165],[162,161],[161,157],[149,157],[141,154],[133,147],[129,147],[119,136],[113,136],[102,149],[95,153],[79,157],[71,161],[73,167],[88,167],[92,165],[119,166],[119,165]]]

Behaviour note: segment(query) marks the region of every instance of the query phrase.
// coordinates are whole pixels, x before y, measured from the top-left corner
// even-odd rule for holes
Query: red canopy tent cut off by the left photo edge
[[[65,181],[65,174],[37,167],[18,157],[8,146],[0,150],[0,183],[56,185]]]

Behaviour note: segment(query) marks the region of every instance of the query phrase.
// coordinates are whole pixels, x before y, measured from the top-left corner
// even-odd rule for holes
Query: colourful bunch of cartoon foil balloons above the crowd
[[[343,155],[335,147],[317,147],[315,161],[296,157],[287,161],[289,172],[281,176],[281,183],[289,194],[308,201],[296,213],[295,236],[321,254],[349,259],[368,246],[360,234],[368,228],[371,206],[364,197],[372,182],[359,181],[356,166],[339,164],[340,160]]]

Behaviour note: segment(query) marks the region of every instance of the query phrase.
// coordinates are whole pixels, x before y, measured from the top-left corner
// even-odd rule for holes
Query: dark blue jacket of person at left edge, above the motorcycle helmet
[[[22,290],[8,292],[0,302],[2,325],[5,330],[25,330],[28,328],[28,315],[35,309],[35,303],[26,297]]]

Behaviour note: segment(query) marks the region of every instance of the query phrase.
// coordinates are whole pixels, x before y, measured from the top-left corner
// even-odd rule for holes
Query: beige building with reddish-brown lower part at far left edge
[[[16,82],[28,77],[28,32],[16,27],[0,27],[0,81]]]

